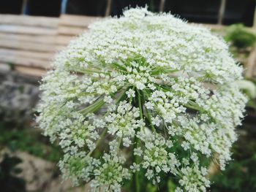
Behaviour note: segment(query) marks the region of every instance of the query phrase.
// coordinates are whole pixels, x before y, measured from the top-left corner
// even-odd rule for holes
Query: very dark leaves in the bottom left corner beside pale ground
[[[25,181],[15,176],[19,174],[21,169],[16,166],[20,164],[21,160],[17,157],[10,157],[5,154],[3,160],[0,163],[0,188],[1,191],[5,192],[25,192],[26,183]]]

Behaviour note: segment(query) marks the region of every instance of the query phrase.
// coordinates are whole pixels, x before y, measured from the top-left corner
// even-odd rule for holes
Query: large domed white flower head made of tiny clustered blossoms
[[[91,191],[121,191],[129,180],[138,191],[141,175],[206,191],[207,166],[225,169],[243,118],[242,70],[207,28],[128,9],[56,55],[37,122],[64,152],[64,178]]]

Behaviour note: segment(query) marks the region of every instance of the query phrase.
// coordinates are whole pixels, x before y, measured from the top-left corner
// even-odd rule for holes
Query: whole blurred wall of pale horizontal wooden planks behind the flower
[[[99,19],[78,15],[59,18],[0,15],[0,70],[12,69],[34,76],[45,74],[53,55]],[[209,27],[219,29],[222,26]],[[245,63],[246,77],[255,77],[256,48]]]

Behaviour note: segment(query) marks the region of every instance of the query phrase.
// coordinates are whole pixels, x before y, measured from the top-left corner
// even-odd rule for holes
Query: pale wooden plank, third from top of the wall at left
[[[35,42],[48,45],[67,45],[73,37],[69,36],[50,36],[50,35],[27,35],[27,34],[8,34],[0,33],[0,39],[10,41]]]

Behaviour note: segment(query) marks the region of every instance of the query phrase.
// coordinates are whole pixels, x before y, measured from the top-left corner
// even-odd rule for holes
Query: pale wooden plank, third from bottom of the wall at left
[[[35,52],[28,50],[11,50],[0,48],[0,57],[8,55],[12,57],[23,57],[23,58],[38,58],[45,61],[50,61],[53,58],[54,53]]]

